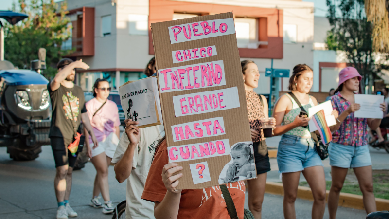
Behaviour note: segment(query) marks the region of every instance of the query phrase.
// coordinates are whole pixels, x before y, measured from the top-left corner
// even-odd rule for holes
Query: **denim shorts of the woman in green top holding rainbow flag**
[[[323,166],[312,138],[301,138],[295,135],[282,136],[278,145],[277,164],[280,173],[292,173],[312,166]]]

